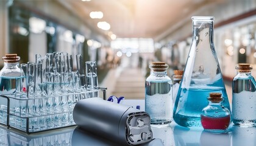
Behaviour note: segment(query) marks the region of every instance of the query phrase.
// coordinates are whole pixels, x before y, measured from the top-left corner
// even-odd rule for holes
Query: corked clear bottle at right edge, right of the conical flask
[[[241,126],[256,125],[256,82],[250,64],[238,64],[233,78],[233,123]]]

